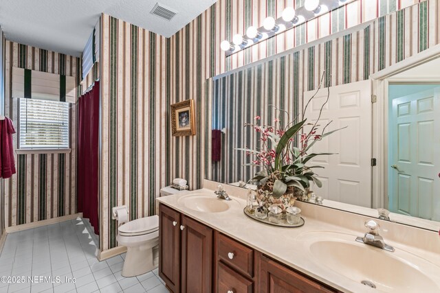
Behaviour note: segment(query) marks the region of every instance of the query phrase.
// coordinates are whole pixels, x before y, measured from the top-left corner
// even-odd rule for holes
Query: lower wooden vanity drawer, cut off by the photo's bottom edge
[[[225,264],[218,263],[219,279],[217,292],[219,293],[252,293],[252,281],[237,274]]]

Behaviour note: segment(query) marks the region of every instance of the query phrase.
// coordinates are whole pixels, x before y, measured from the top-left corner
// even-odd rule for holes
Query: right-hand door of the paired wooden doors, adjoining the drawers
[[[212,229],[182,215],[181,292],[212,292]]]

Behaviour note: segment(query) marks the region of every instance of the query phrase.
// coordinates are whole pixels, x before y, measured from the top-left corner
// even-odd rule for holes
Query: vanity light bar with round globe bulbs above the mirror
[[[255,27],[248,27],[246,30],[246,34],[244,34],[241,38],[242,42],[239,42],[239,35],[234,35],[234,39],[231,41],[223,40],[223,42],[228,42],[228,44],[234,44],[230,45],[228,49],[228,44],[223,43],[223,46],[221,46],[222,50],[225,51],[225,56],[230,56],[232,54],[235,54],[242,49],[251,47],[259,42],[261,40],[267,40],[268,38],[272,38],[273,36],[276,36],[276,34],[279,34],[281,32],[286,32],[287,30],[292,29],[292,27],[296,27],[297,25],[300,25],[302,23],[305,23],[307,21],[310,21],[311,19],[315,19],[316,17],[329,12],[331,10],[335,10],[337,8],[340,8],[344,5],[347,5],[348,3],[354,1],[354,0],[305,0],[314,2],[314,3],[306,3],[307,8],[311,9],[311,6],[313,6],[314,10],[309,11],[306,9],[306,5],[303,7],[300,7],[296,10],[293,10],[294,12],[294,18],[292,20],[285,21],[287,18],[286,16],[283,18],[283,16],[279,17],[278,19],[272,19],[268,17],[263,21],[263,25],[259,28]],[[316,3],[318,3],[317,7]],[[311,5],[313,4],[313,5]],[[292,11],[289,11],[289,14],[292,14]],[[234,42],[235,40],[235,42]],[[240,45],[237,45],[240,43]]]

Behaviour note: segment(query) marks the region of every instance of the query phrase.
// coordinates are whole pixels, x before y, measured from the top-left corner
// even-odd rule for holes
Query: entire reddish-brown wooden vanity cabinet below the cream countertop
[[[338,292],[164,204],[159,277],[173,293]]]

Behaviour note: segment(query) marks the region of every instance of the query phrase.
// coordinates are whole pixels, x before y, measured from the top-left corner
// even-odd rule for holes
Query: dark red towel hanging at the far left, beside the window
[[[11,119],[5,117],[4,120],[0,120],[0,132],[0,177],[10,178],[16,172],[12,142],[12,134],[15,133],[15,129]]]

